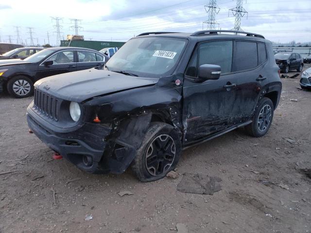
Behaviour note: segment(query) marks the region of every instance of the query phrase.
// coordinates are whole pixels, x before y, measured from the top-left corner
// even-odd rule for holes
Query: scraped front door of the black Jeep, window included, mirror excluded
[[[200,140],[235,124],[238,89],[231,74],[232,40],[203,42],[197,45],[185,72],[183,84],[184,142]],[[198,67],[221,67],[218,80],[200,81]]]

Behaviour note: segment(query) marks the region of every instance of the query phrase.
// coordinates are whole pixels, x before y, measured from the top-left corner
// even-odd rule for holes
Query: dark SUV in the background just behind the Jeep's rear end
[[[280,67],[281,72],[288,73],[292,69],[296,69],[298,72],[302,71],[303,59],[299,53],[279,52],[274,56],[276,65]]]

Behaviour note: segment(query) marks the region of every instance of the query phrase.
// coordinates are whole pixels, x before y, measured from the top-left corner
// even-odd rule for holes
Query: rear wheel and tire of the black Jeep
[[[255,111],[253,122],[245,127],[246,132],[254,137],[262,137],[268,132],[271,126],[273,114],[273,102],[269,98],[262,98]]]

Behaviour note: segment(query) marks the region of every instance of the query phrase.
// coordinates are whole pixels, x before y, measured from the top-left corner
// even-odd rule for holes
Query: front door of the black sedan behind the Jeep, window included
[[[53,64],[48,66],[40,64],[35,75],[36,80],[56,74],[76,71],[77,68],[74,60],[74,50],[56,52],[46,61],[53,61]]]

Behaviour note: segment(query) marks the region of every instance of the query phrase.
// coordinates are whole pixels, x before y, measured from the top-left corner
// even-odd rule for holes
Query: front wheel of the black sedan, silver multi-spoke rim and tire
[[[9,94],[15,98],[26,98],[34,93],[33,81],[22,75],[11,78],[6,85],[6,88]]]

